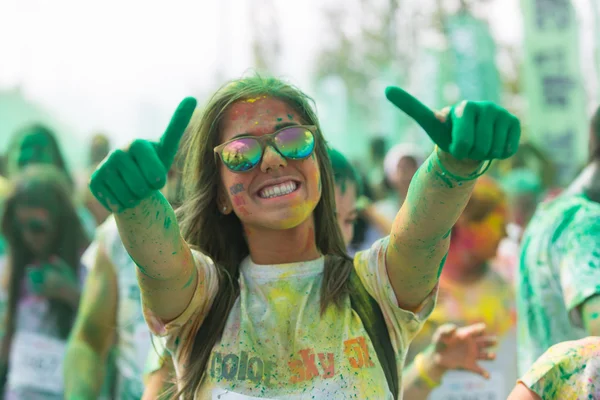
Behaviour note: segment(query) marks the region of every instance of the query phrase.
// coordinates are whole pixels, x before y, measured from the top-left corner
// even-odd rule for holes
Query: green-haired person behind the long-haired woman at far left
[[[11,138],[8,149],[7,177],[9,179],[31,164],[53,165],[65,175],[71,196],[76,198],[73,176],[67,168],[55,133],[48,127],[36,124],[23,128]],[[96,222],[88,209],[77,203],[76,200],[77,214],[81,219],[87,237],[91,240],[96,230]]]

